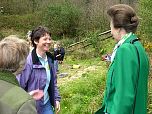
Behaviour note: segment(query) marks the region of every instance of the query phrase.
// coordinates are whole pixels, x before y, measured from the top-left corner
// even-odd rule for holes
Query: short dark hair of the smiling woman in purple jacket
[[[30,37],[34,48],[36,48],[36,44],[34,43],[34,41],[39,41],[39,39],[43,37],[45,34],[49,34],[51,36],[51,33],[49,32],[48,28],[43,26],[39,26],[32,30]]]

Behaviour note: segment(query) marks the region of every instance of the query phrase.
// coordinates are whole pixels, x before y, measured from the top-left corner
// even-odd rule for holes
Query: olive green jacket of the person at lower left
[[[0,114],[37,114],[35,101],[18,87],[15,75],[0,72]]]

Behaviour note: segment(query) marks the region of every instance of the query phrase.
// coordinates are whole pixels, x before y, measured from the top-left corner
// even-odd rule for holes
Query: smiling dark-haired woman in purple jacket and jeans
[[[30,36],[34,49],[17,78],[20,86],[36,100],[38,114],[54,114],[54,107],[57,112],[60,111],[61,97],[57,89],[53,56],[49,53],[51,34],[47,28],[38,27]]]

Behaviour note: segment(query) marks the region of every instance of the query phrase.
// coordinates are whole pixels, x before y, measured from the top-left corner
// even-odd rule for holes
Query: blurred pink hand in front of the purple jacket
[[[39,90],[39,89],[31,91],[31,92],[29,92],[29,94],[35,100],[40,100],[44,96],[43,90]]]

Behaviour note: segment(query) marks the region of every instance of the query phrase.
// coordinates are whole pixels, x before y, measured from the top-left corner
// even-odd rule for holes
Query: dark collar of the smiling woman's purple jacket
[[[46,55],[47,55],[47,57],[52,59],[52,63],[53,63],[53,60],[54,60],[53,55],[50,52],[46,52]],[[41,62],[39,61],[39,58],[36,54],[35,48],[32,50],[32,61],[33,61],[33,64],[41,65]]]

